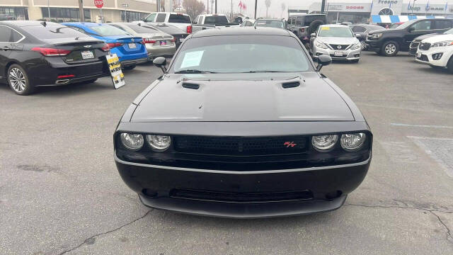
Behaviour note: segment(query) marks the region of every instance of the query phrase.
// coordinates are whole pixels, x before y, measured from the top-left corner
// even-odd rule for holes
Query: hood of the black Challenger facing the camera
[[[261,75],[261,77],[260,77]],[[299,81],[284,89],[282,83]],[[184,83],[198,84],[187,89]],[[132,122],[352,121],[342,97],[316,72],[168,74],[139,101]]]

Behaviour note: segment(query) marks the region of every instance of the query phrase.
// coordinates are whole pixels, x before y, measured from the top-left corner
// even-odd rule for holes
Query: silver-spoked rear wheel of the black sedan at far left
[[[11,64],[6,74],[9,87],[18,95],[33,94],[35,87],[30,84],[30,79],[25,70],[18,64]]]

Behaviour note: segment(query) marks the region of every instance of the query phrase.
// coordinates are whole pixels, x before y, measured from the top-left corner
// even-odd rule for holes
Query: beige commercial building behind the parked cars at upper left
[[[105,22],[138,21],[153,11],[156,0],[103,0],[102,16]],[[79,1],[0,0],[1,15],[18,20],[79,21]],[[84,0],[84,16],[86,21],[99,21],[101,9],[96,8],[94,0]]]

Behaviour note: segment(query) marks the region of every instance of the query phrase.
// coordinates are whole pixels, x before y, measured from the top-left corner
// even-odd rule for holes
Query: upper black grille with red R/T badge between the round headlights
[[[307,137],[176,136],[176,152],[214,155],[275,155],[306,151]]]

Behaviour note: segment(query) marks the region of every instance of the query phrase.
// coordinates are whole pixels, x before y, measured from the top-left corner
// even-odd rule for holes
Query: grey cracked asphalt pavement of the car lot
[[[372,127],[369,173],[336,211],[261,220],[150,210],[122,182],[113,132],[159,68],[0,85],[0,254],[453,254],[453,75],[374,52],[322,72]]]

